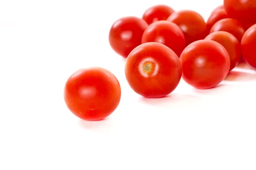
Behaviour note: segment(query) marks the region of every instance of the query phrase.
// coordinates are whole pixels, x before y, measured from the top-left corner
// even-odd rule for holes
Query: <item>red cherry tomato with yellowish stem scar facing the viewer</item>
[[[137,94],[147,98],[164,97],[180,82],[180,60],[166,45],[147,42],[134,48],[127,57],[125,77]]]

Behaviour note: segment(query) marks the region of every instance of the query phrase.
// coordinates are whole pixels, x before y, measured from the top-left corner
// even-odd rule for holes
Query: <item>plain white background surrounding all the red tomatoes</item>
[[[255,170],[256,73],[221,85],[181,81],[163,99],[135,94],[108,43],[119,17],[150,6],[192,9],[205,20],[222,0],[1,0],[0,170]],[[67,78],[88,66],[119,79],[121,102],[103,121],[67,109]]]

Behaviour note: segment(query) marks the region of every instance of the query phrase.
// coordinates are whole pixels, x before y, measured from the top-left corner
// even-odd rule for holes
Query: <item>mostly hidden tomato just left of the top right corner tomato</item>
[[[209,19],[206,22],[207,26],[207,33],[210,32],[212,26],[219,20],[222,20],[224,18],[228,18],[227,12],[225,11],[224,8],[218,8],[215,9],[212,14],[210,15]]]

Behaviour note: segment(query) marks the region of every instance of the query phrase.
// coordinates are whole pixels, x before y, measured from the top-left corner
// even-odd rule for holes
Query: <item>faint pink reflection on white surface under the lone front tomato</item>
[[[79,119],[79,126],[87,130],[106,133],[113,129],[113,122],[108,117],[98,121],[86,121]]]

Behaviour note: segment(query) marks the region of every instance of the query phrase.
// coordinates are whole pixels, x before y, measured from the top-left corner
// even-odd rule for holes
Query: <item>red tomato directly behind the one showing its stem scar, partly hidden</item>
[[[144,31],[142,43],[159,42],[171,48],[177,56],[185,48],[185,37],[180,27],[169,21],[157,21],[152,23]]]

